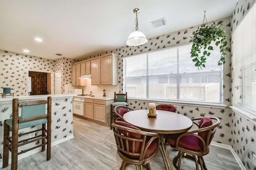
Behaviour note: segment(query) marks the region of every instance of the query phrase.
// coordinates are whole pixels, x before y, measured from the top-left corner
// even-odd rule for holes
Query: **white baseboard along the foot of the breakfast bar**
[[[74,138],[74,135],[70,135],[70,136],[65,137],[65,138],[63,138],[63,139],[60,139],[60,140],[58,140],[58,141],[52,142],[52,143],[51,143],[51,147],[53,147],[54,145],[58,145],[58,144],[60,144],[60,143],[62,143],[62,142],[68,141],[68,140],[70,140],[70,139],[72,139],[72,138]],[[30,150],[30,151],[28,151],[28,152],[25,152],[25,153],[23,153],[23,154],[18,155],[18,160],[23,159],[23,158],[26,158],[27,156],[30,156],[30,155],[35,154],[35,153],[37,153],[37,152],[41,152],[41,148],[40,148],[40,147],[39,147],[39,148],[36,148],[36,149],[33,149],[33,150]],[[9,159],[9,164],[11,163],[11,161],[12,161],[12,160]],[[2,166],[3,166],[3,162],[0,162],[0,167],[2,167]]]

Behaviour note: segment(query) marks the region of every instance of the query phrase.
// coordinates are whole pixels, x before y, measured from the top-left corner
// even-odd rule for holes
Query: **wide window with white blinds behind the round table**
[[[190,57],[192,44],[151,51],[123,59],[124,91],[130,98],[222,104],[219,47],[202,70]]]

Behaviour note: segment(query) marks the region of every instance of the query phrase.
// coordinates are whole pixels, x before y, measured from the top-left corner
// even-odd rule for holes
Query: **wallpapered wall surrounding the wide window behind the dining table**
[[[224,18],[223,20],[219,20],[216,22],[222,22],[224,25],[224,29],[226,30],[226,34],[229,38],[231,38],[231,27],[230,27],[230,18]],[[210,25],[211,23],[209,23]],[[118,57],[118,82],[119,82],[119,89],[120,92],[123,92],[123,63],[122,59],[124,57],[129,57],[134,54],[143,53],[146,51],[153,51],[156,49],[163,49],[167,47],[172,47],[175,45],[186,44],[190,42],[192,37],[193,31],[195,31],[198,26],[190,27],[188,29],[176,31],[174,33],[170,33],[168,35],[162,35],[159,37],[155,37],[148,40],[148,44],[141,46],[141,47],[121,47],[118,49],[114,49],[112,51],[106,51],[105,53],[101,53],[98,55],[86,57],[83,60],[96,58],[101,55],[105,55],[107,53],[116,53],[119,55]],[[128,36],[128,35],[127,35]],[[228,40],[229,47],[230,47],[230,40]],[[226,64],[224,64],[223,68],[223,98],[224,104],[226,106],[230,106],[230,99],[231,99],[231,60],[230,54],[226,57]],[[217,64],[217,63],[216,63]],[[197,69],[197,68],[195,68]],[[129,100],[129,106],[133,107],[134,109],[146,109],[148,107],[148,102],[143,100]],[[190,118],[192,117],[201,117],[201,116],[215,116],[221,119],[221,124],[216,131],[216,135],[213,139],[214,142],[223,143],[226,145],[230,145],[230,125],[231,125],[231,110],[229,107],[226,109],[219,109],[219,108],[210,108],[210,107],[195,107],[195,106],[188,106],[188,105],[178,105],[174,104],[177,107],[180,114],[186,115]]]

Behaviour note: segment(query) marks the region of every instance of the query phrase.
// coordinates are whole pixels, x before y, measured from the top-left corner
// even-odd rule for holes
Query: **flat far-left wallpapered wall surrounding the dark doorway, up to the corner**
[[[0,65],[0,88],[11,87],[14,96],[26,96],[27,70],[54,71],[55,61],[0,50]]]

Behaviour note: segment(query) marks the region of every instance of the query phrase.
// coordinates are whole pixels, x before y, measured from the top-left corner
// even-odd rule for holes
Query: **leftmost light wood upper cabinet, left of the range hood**
[[[71,70],[71,84],[72,86],[86,86],[86,80],[80,80],[81,77],[81,64],[72,64]]]

